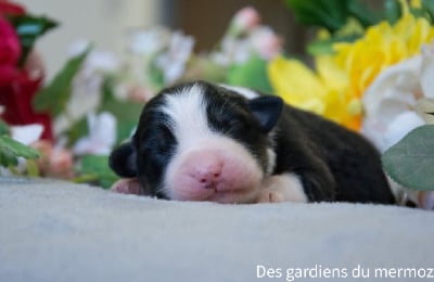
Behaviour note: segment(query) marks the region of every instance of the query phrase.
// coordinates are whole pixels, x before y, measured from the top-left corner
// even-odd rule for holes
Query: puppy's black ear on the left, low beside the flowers
[[[137,177],[136,150],[131,142],[126,142],[110,154],[108,166],[119,177]]]

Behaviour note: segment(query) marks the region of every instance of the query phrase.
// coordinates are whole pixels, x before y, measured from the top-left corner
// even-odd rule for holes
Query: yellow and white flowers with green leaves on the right
[[[286,2],[321,29],[308,47],[316,69],[282,56],[270,62],[277,92],[368,137],[399,184],[434,190],[434,3],[385,1],[381,14],[356,0]]]

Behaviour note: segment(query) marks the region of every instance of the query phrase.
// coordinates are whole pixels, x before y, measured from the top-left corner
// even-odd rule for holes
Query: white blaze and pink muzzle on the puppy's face
[[[254,202],[264,178],[258,162],[242,144],[209,128],[200,86],[182,91],[167,95],[163,107],[177,139],[165,192],[173,200]]]

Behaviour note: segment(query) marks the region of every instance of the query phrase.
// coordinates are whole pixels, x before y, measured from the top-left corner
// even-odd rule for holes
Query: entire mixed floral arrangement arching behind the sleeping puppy
[[[26,113],[48,117],[52,127],[35,118],[20,123],[10,119],[10,113],[20,111],[4,102],[11,101],[10,92],[0,92],[1,117],[12,125],[3,129],[1,138],[9,134],[13,138],[8,142],[20,141],[14,133],[20,131],[16,125],[44,125],[43,142],[25,142],[38,149],[43,161],[30,166],[31,162],[26,162],[25,169],[13,172],[110,187],[116,176],[107,167],[107,154],[133,132],[143,103],[164,87],[206,79],[277,93],[288,103],[359,131],[385,152],[384,167],[396,181],[414,190],[432,190],[434,2],[385,0],[381,11],[359,0],[285,3],[301,23],[317,30],[306,48],[314,66],[285,54],[281,38],[261,24],[253,8],[239,11],[208,52],[195,53],[193,37],[161,26],[129,30],[125,57],[99,51],[87,42],[73,44],[71,59],[52,81],[41,88],[43,77],[39,76],[37,86],[25,90],[30,97],[24,99],[29,108]],[[16,34],[12,21],[15,14],[7,14],[0,5],[0,15],[1,36]],[[46,30],[54,25],[44,21]],[[28,55],[31,48],[25,50],[7,61],[0,56],[0,67],[8,64],[22,75],[28,74],[35,60],[30,60],[31,52]],[[18,54],[25,54],[24,59],[17,59]],[[1,69],[0,88],[11,87],[12,80]],[[4,154],[3,142],[0,139],[0,156]],[[36,156],[33,151],[18,151],[22,154],[17,156]],[[409,172],[417,162],[423,162],[423,169]],[[5,162],[1,164],[5,166]]]

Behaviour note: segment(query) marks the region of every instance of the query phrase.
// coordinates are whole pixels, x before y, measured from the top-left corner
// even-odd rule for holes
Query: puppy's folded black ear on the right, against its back
[[[258,97],[248,101],[253,115],[259,121],[263,132],[268,133],[279,120],[283,108],[283,100],[279,97]]]

